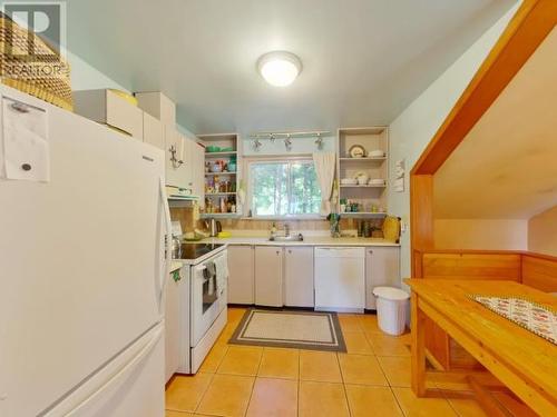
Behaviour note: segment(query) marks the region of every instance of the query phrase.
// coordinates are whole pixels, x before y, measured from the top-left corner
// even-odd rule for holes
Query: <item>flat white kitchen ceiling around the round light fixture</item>
[[[71,0],[68,47],[197,133],[385,125],[515,0]],[[267,86],[257,58],[303,72]]]

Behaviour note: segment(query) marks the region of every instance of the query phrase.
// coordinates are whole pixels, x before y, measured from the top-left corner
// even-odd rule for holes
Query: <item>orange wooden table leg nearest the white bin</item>
[[[412,390],[417,397],[426,396],[426,316],[418,305],[418,295],[411,296],[412,320]]]

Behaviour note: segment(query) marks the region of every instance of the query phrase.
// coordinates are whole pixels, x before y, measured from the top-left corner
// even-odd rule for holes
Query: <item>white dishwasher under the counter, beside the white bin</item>
[[[315,309],[362,312],[365,308],[365,251],[315,248]]]

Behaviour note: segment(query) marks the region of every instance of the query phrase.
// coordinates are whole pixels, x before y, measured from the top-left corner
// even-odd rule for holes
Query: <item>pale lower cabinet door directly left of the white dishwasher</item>
[[[313,248],[290,247],[284,251],[284,305],[314,307]]]

